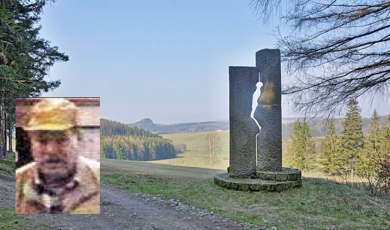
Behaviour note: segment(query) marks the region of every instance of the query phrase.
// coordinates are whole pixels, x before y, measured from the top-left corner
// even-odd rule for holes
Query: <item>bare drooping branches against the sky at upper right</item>
[[[285,25],[274,35],[287,73],[283,93],[295,112],[329,116],[351,99],[388,98],[390,1],[252,0],[249,5],[265,23],[280,15]]]

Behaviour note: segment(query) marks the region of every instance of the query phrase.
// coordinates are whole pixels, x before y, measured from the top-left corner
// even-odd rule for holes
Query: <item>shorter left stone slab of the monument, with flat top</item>
[[[256,134],[251,118],[258,82],[255,67],[229,67],[230,177],[245,178],[256,171]]]

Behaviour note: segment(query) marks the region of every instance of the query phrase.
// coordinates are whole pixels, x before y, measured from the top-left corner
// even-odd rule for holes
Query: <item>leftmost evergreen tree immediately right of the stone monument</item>
[[[292,155],[291,164],[293,168],[303,169],[305,164],[305,141],[302,123],[298,120],[294,122],[290,133],[290,142],[287,144],[287,149]]]

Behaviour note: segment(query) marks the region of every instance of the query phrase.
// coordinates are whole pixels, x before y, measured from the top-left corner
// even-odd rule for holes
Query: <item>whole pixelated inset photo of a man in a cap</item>
[[[100,98],[16,98],[16,213],[100,212]]]

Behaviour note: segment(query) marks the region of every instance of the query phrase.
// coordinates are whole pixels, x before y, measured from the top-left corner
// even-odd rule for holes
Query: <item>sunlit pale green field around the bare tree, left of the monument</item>
[[[203,149],[206,135],[210,132],[175,133],[161,135],[177,143],[185,143],[187,151],[178,154],[176,159],[164,159],[150,161],[153,163],[173,164],[190,167],[211,168],[210,163],[203,158]],[[229,166],[229,130],[216,132],[222,140],[221,153],[218,156],[219,162],[214,165],[215,169],[225,170]]]

